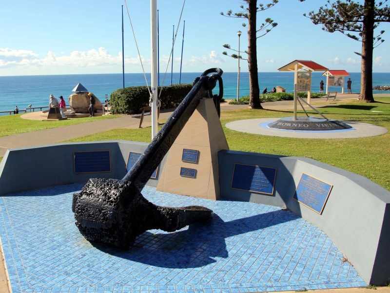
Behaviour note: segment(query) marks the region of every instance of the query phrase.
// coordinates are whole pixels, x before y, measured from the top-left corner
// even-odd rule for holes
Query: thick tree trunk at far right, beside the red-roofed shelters
[[[362,30],[362,76],[360,80],[359,99],[375,102],[372,96],[372,52],[374,43],[374,0],[364,1],[364,18]]]

